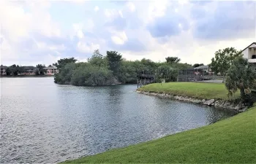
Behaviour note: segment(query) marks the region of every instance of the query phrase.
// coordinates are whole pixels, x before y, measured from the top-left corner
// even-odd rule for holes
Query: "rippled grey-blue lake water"
[[[57,163],[208,125],[233,114],[53,77],[1,78],[1,163]]]

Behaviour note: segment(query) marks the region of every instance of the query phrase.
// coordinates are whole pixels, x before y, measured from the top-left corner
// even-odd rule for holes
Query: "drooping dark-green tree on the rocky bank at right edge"
[[[241,100],[252,105],[251,89],[256,84],[256,72],[249,65],[248,60],[242,57],[236,58],[233,65],[227,71],[225,86],[228,95],[233,95],[240,90]]]

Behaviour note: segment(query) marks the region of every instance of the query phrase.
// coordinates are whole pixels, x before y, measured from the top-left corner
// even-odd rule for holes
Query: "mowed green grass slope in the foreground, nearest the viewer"
[[[202,128],[65,163],[256,163],[256,106]]]

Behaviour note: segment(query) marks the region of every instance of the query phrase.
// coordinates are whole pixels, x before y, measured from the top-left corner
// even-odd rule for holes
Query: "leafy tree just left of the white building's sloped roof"
[[[233,64],[233,60],[241,56],[241,51],[236,50],[233,47],[225,48],[224,50],[218,50],[215,52],[215,58],[211,59],[211,69],[220,73],[225,81],[225,75],[227,70]]]

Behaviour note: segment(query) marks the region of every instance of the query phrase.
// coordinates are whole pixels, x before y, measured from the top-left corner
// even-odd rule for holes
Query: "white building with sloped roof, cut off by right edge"
[[[248,62],[252,63],[252,66],[256,70],[256,42],[249,44],[249,46],[244,48],[241,52],[244,58],[247,58]]]

